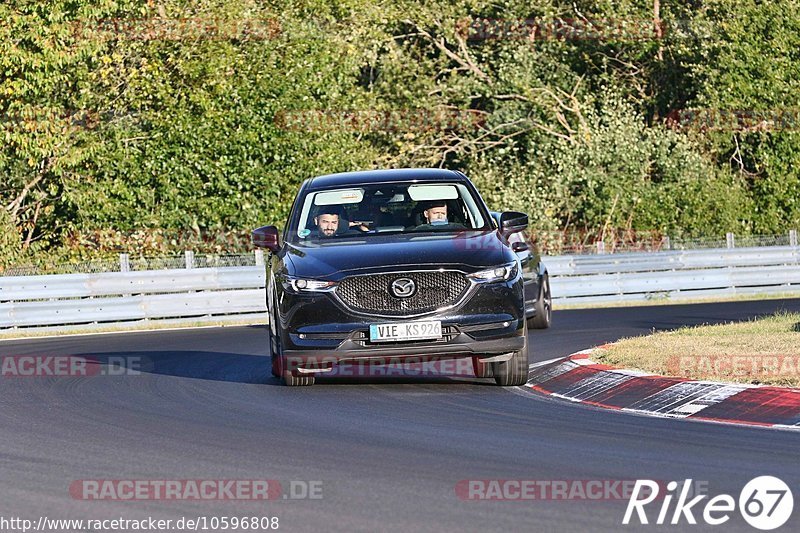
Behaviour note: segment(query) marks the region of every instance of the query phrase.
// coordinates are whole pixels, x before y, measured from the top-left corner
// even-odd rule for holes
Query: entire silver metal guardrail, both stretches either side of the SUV
[[[544,257],[556,305],[800,294],[800,247]],[[0,331],[142,320],[266,320],[256,266],[0,277]]]

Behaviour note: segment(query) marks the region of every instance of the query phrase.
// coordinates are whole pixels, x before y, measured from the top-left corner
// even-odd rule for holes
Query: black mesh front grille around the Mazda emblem
[[[389,292],[392,282],[400,278],[414,280],[417,291],[412,296],[398,298]],[[403,316],[452,305],[468,288],[464,274],[445,270],[350,276],[339,282],[336,295],[354,311]]]

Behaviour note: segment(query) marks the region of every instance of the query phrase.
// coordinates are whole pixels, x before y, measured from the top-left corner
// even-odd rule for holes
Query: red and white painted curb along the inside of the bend
[[[800,430],[800,389],[696,381],[596,363],[593,348],[535,365],[525,385],[631,413]]]

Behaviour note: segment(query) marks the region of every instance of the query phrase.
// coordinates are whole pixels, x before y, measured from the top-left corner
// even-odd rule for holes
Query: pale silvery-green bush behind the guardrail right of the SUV
[[[536,161],[482,161],[474,173],[487,201],[530,210],[534,227],[546,230],[569,223],[687,236],[747,230],[740,180],[694,152],[683,135],[646,127],[619,97],[596,104],[599,110],[582,112],[581,135],[537,143]]]

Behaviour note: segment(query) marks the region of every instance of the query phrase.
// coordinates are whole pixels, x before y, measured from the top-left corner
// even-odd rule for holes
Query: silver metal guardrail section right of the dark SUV
[[[800,293],[797,246],[555,256],[544,262],[556,304]]]

